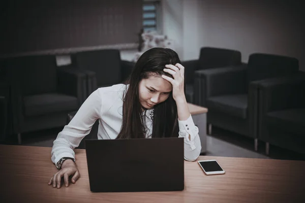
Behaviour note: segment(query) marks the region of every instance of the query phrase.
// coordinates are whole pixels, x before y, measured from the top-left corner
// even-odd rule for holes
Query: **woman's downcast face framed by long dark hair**
[[[172,85],[160,76],[150,76],[139,83],[139,98],[143,108],[151,109],[165,101],[171,91]]]

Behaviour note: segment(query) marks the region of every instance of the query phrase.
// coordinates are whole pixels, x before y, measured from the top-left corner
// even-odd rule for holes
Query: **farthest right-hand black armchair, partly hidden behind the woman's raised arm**
[[[181,61],[181,63],[185,66],[187,100],[190,103],[199,105],[200,97],[198,97],[198,93],[201,92],[201,89],[196,89],[195,72],[216,67],[240,65],[241,53],[230,49],[202,47],[199,59]]]

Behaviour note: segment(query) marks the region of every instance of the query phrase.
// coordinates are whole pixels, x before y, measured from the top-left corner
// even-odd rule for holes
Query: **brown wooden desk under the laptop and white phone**
[[[184,191],[92,193],[85,151],[75,152],[81,177],[57,189],[48,185],[57,172],[51,148],[0,145],[0,202],[305,202],[305,161],[200,156],[217,159],[226,174],[206,176],[186,161]]]

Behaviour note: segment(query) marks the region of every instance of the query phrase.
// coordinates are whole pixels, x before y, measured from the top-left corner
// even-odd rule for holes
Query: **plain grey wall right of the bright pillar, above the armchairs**
[[[266,3],[267,2],[267,3]],[[200,46],[236,49],[247,62],[254,52],[299,59],[305,71],[303,11],[297,1],[199,1]],[[301,2],[301,1],[299,1]]]

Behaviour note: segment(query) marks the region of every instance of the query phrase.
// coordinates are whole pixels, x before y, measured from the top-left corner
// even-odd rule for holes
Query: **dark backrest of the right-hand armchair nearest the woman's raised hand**
[[[232,49],[202,47],[199,56],[198,69],[211,69],[241,64],[240,51]]]

